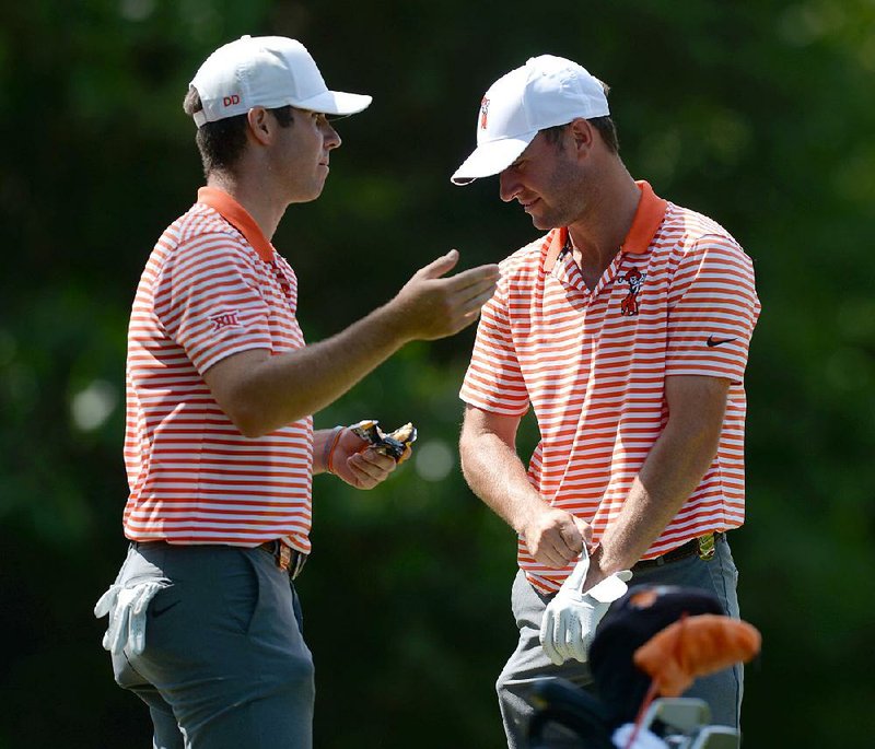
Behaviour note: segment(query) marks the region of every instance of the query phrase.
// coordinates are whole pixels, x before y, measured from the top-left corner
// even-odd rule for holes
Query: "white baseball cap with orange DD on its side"
[[[203,105],[195,113],[198,127],[256,106],[273,109],[291,104],[326,115],[354,115],[372,101],[363,94],[328,91],[304,45],[284,36],[247,34],[219,47],[200,66],[191,85]]]

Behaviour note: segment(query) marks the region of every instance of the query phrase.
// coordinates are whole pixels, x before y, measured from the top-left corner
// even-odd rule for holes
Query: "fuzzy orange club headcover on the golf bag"
[[[654,634],[633,655],[663,697],[679,697],[698,676],[748,662],[762,637],[746,621],[713,613],[684,617]]]

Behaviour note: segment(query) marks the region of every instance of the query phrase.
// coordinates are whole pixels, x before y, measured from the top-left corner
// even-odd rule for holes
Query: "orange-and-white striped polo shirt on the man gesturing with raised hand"
[[[205,187],[155,245],[128,330],[125,535],[310,551],[313,420],[243,436],[203,382],[242,351],[304,346],[298,280],[246,210]]]

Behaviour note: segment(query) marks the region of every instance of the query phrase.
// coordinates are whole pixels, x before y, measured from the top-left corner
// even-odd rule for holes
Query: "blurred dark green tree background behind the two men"
[[[489,83],[549,51],[611,85],[630,172],[756,264],[748,523],[732,536],[765,642],[745,746],[872,740],[874,32],[871,0],[3,3],[0,749],[149,746],[92,617],[125,552],[127,317],[202,182],[188,81],[244,33],[298,37],[329,85],[374,95],[338,122],[324,196],[275,237],[310,340],[450,247],[470,267],[536,236],[494,179],[450,184]],[[370,494],[315,480],[299,588],[319,749],[502,746],[514,539],[458,469],[472,338],[409,346],[316,416],[420,429],[415,458]],[[524,457],[535,440],[526,422]]]

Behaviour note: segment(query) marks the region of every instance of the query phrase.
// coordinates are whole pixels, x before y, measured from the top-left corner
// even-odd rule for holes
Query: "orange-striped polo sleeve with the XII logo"
[[[271,349],[255,261],[235,236],[210,233],[180,242],[161,271],[155,312],[201,375],[232,354]]]

